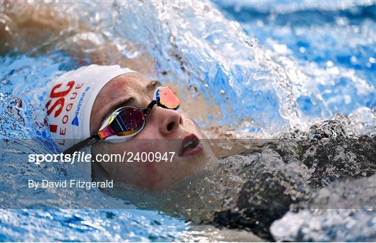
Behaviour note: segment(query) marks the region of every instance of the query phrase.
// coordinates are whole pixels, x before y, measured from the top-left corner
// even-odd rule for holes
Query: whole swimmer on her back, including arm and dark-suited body
[[[82,66],[54,79],[47,87],[49,131],[62,151],[90,149],[93,155],[122,154],[124,151],[176,153],[169,163],[94,161],[91,167],[80,170],[93,181],[102,181],[96,180],[101,177],[112,178],[116,182],[158,191],[151,200],[154,194],[150,190],[137,188],[132,192],[146,192],[141,195],[147,196],[146,200],[130,199],[130,193],[126,192],[125,200],[134,205],[162,208],[171,215],[178,212],[186,215],[185,219],[198,223],[214,222],[251,229],[270,240],[272,222],[309,199],[311,188],[307,184],[314,187],[327,185],[335,178],[347,176],[344,168],[350,168],[348,174],[357,177],[375,174],[372,163],[375,153],[368,153],[374,149],[359,149],[366,151],[363,154],[352,152],[358,150],[358,140],[350,140],[345,135],[341,140],[328,140],[332,122],[328,124],[329,128],[315,128],[317,134],[309,135],[300,144],[295,140],[270,143],[260,146],[258,153],[251,156],[230,158],[213,171],[205,170],[213,164],[212,159],[221,157],[221,154],[205,143],[205,136],[194,119],[183,112],[182,107],[191,101],[180,100],[178,89],[146,77],[155,73],[152,60],[123,60],[116,49],[112,51],[111,42],[107,40],[97,45],[91,43],[93,46],[88,48],[91,51],[86,49],[86,43],[71,43],[70,40],[75,38],[64,38],[65,33],[69,33],[66,26],[77,26],[70,31],[79,34],[90,33],[90,30],[82,24],[72,24],[74,19],[70,17],[49,15],[48,9],[33,11],[26,6],[6,17],[15,20],[7,20],[11,31],[1,34],[1,40],[6,43],[1,47],[6,47],[6,53],[14,47],[18,51],[27,51],[36,46],[43,47],[38,49],[43,51],[48,43],[54,48],[56,41],[63,39],[63,44],[58,42],[58,48],[70,46],[63,51],[77,58]],[[39,26],[44,31],[33,31],[30,26],[36,29]],[[61,31],[62,28],[65,31]],[[17,34],[10,35],[12,30]],[[26,38],[29,33],[35,34],[35,38]],[[46,33],[52,33],[55,42],[49,42]],[[30,41],[19,42],[25,39]],[[84,61],[83,53],[88,54],[90,63]],[[111,53],[114,58],[108,56]],[[95,65],[90,65],[92,63]],[[191,106],[196,110],[200,108]],[[111,121],[124,122],[126,126],[116,126]],[[334,129],[333,134],[337,137],[340,131]],[[324,139],[320,141],[321,137]],[[372,141],[369,142],[370,148],[375,147]],[[343,148],[350,151],[345,151],[343,158],[362,158],[361,161],[351,160],[352,164],[346,164],[330,160],[338,158],[333,156],[333,151],[343,153]]]

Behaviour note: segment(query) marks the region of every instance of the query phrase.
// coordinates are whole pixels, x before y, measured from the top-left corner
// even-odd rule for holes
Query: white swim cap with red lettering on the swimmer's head
[[[47,85],[47,121],[52,138],[64,151],[91,136],[91,110],[97,94],[112,78],[135,72],[119,65],[80,67]]]

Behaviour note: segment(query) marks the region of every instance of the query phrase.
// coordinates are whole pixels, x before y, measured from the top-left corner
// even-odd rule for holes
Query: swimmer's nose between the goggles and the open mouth
[[[178,111],[164,109],[161,107],[155,108],[155,110],[153,109],[153,112],[155,112],[154,115],[156,116],[159,124],[159,132],[162,135],[168,136],[178,130],[179,126],[182,126],[183,119]]]

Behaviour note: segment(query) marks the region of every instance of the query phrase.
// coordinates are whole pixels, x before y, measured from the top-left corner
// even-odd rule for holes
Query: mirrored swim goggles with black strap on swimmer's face
[[[74,153],[98,141],[126,142],[130,140],[142,131],[145,126],[145,117],[155,105],[165,109],[178,110],[180,100],[171,87],[157,87],[152,101],[146,108],[140,109],[134,106],[123,106],[116,109],[104,119],[100,130],[95,135],[75,144],[65,150],[64,153]]]

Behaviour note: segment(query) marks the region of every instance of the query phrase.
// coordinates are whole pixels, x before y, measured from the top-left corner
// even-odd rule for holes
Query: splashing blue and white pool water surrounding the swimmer
[[[29,209],[6,209],[17,208],[13,206],[17,200],[4,195],[24,183],[26,176],[67,178],[59,165],[36,169],[21,156],[58,151],[54,144],[30,144],[26,139],[49,138],[44,125],[45,85],[67,70],[90,64],[95,45],[111,42],[120,51],[121,56],[107,53],[106,64],[117,64],[119,58],[155,60],[141,62],[152,63],[150,78],[180,87],[182,100],[192,99],[191,106],[205,103],[205,112],[197,114],[194,107],[182,104],[204,128],[226,127],[238,137],[279,137],[308,131],[315,122],[340,112],[350,119],[349,133],[376,135],[375,1],[38,4],[78,18],[92,31],[68,28],[26,53],[15,48],[1,56],[2,241],[239,240],[236,232],[214,238],[224,232],[218,229],[195,233],[195,226],[184,218],[133,205],[123,210],[49,209],[58,208],[56,197],[68,196],[59,192],[48,192],[47,200],[28,204],[37,192],[24,188],[15,196],[22,196],[23,208]],[[79,60],[70,54],[77,47],[87,54]],[[87,199],[94,208],[124,203],[97,190],[69,196]],[[333,210],[329,216],[320,210],[288,212],[272,225],[272,236],[375,240],[375,210],[353,213],[354,217],[350,211]],[[246,235],[241,240],[255,239]]]

